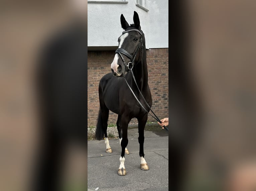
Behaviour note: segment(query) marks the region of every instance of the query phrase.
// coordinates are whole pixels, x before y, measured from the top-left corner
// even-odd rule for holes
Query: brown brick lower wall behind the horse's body
[[[110,64],[114,55],[115,51],[88,51],[88,126],[96,126],[100,106],[99,82],[105,74],[111,72]],[[151,109],[161,119],[168,116],[168,48],[147,50],[147,65],[153,101]],[[110,111],[108,123],[116,124],[116,121],[117,114]],[[157,122],[150,115],[148,121]],[[133,118],[131,123],[135,122],[137,119]]]

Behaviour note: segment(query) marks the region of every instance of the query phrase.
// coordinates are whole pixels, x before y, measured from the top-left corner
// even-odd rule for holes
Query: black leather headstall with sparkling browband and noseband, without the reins
[[[139,48],[140,48],[140,44],[142,44],[142,33],[141,33],[139,30],[137,30],[137,29],[131,29],[131,30],[128,30],[128,31],[123,31],[123,34],[124,34],[124,33],[128,33],[128,32],[130,32],[130,31],[137,31],[137,32],[141,35],[139,44],[138,44],[136,50],[134,51],[134,53],[131,55],[130,53],[128,53],[126,50],[124,50],[124,49],[122,49],[122,48],[118,48],[118,49],[116,50],[116,52],[115,52],[115,53],[118,53],[118,54],[120,55],[120,57],[122,58],[122,61],[123,61],[123,64],[124,64],[124,66],[125,66],[125,71],[126,71],[126,72],[130,72],[130,70],[133,68],[134,60],[135,60],[136,55],[137,55],[137,52],[138,52],[138,50],[139,50]],[[142,45],[142,46],[143,46],[143,45]],[[129,62],[129,63],[127,64],[127,66],[125,65],[125,61],[124,61],[124,58],[123,58],[122,54],[125,55],[126,57],[128,57],[128,58],[130,59],[130,61],[131,61],[131,62]]]

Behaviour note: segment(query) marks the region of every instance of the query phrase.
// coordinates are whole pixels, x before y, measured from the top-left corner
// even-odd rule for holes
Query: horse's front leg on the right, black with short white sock
[[[144,129],[147,122],[148,116],[145,115],[142,119],[138,119],[138,131],[139,131],[139,137],[138,141],[140,144],[140,169],[141,170],[148,170],[149,167],[147,165],[147,162],[144,158]]]

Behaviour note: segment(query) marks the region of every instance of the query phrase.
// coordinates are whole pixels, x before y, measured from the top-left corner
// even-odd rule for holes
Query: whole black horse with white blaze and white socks
[[[138,13],[134,11],[134,24],[130,26],[123,14],[121,14],[120,20],[124,31],[118,38],[119,46],[111,63],[112,73],[104,75],[99,83],[100,109],[95,138],[102,140],[105,135],[106,152],[112,153],[107,135],[109,110],[118,114],[116,125],[122,147],[118,175],[125,176],[127,174],[124,166],[125,153],[129,154],[126,148],[128,145],[127,129],[132,118],[137,118],[138,120],[140,168],[142,170],[149,169],[144,158],[143,145],[144,128],[148,119],[148,112],[152,106],[152,96],[148,86],[145,36],[141,30]],[[126,65],[126,63],[128,64]],[[131,72],[129,72],[131,69],[134,71],[134,78],[139,90],[136,87],[136,82]],[[131,87],[134,95],[136,95],[143,107],[146,108],[145,110],[138,103],[125,80]],[[139,91],[142,93],[146,103],[143,97],[140,96]]]

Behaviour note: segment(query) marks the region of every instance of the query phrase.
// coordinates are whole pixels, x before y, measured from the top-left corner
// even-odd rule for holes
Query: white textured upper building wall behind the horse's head
[[[88,47],[118,46],[122,34],[121,14],[129,24],[133,12],[140,18],[145,34],[146,48],[168,48],[168,1],[147,0],[148,12],[136,6],[136,0],[128,3],[91,3],[88,1]]]

